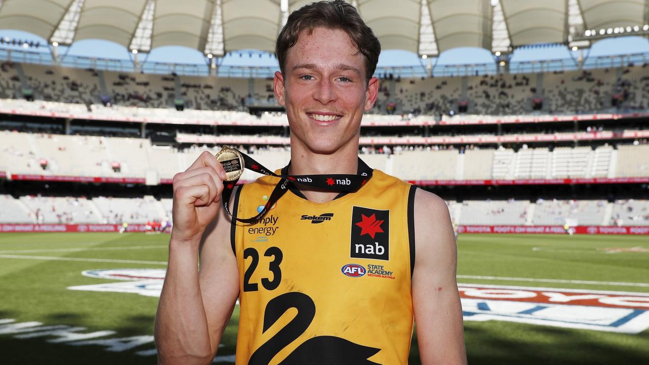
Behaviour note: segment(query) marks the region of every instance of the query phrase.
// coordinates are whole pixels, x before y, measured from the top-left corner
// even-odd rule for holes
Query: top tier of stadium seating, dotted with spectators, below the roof
[[[186,109],[234,110],[243,105],[274,105],[272,79],[254,77],[199,77],[159,75],[129,71],[95,71],[37,64],[3,62],[0,69],[0,97],[21,97],[18,66],[34,98],[45,101],[101,105],[106,94],[113,105],[141,108],[172,108],[177,98]],[[397,104],[395,114],[428,116],[458,113],[459,101],[468,103],[469,115],[516,116],[533,114],[532,98],[543,98],[543,110],[550,114],[581,114],[622,108],[649,108],[649,68],[594,68],[553,71],[542,75],[515,73],[464,77],[384,77],[380,81],[378,105],[373,112],[387,114],[387,101]],[[463,81],[466,88],[463,89]],[[104,86],[101,86],[103,84]],[[102,89],[105,88],[105,90]],[[615,104],[612,103],[616,99]],[[442,117],[442,118],[445,118]]]

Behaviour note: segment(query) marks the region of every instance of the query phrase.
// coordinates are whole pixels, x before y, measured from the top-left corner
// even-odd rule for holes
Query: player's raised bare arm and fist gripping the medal
[[[158,364],[211,363],[238,295],[229,221],[217,216],[222,171],[204,153],[173,179],[174,227],[154,329]]]

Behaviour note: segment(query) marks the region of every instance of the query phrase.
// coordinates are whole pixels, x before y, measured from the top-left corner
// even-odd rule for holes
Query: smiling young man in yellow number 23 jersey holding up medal
[[[351,5],[322,1],[289,16],[276,53],[275,95],[291,129],[282,175],[368,179],[349,194],[292,184],[245,225],[219,208],[226,177],[214,156],[178,173],[158,363],[210,363],[239,298],[237,364],[406,364],[413,318],[423,364],[464,364],[445,202],[358,159],[378,40]],[[239,188],[233,213],[255,216],[278,181]]]

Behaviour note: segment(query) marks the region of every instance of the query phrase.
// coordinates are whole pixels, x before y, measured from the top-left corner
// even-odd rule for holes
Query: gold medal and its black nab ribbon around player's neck
[[[363,186],[372,177],[372,169],[369,168],[365,162],[360,158],[358,159],[358,166],[360,173],[351,175],[347,173],[328,174],[328,175],[277,175],[273,171],[268,170],[259,162],[256,162],[252,157],[242,153],[238,149],[224,145],[221,151],[216,154],[216,159],[223,165],[223,170],[227,174],[227,179],[223,185],[223,207],[225,211],[232,216],[232,218],[243,222],[253,223],[254,221],[262,218],[268,210],[273,207],[275,202],[282,197],[288,190],[288,185],[291,183],[303,184],[312,186],[323,190],[332,192],[355,192]],[[252,218],[237,218],[230,212],[230,196],[234,190],[234,186],[243,174],[244,169],[249,169],[264,175],[279,177],[280,181],[273,189],[273,193],[266,201],[262,211]]]

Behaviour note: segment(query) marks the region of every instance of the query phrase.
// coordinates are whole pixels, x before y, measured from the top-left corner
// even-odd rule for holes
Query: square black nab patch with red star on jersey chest
[[[389,260],[389,227],[389,210],[354,207],[350,257]]]

